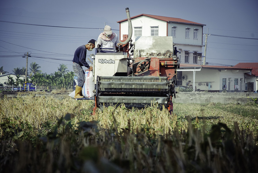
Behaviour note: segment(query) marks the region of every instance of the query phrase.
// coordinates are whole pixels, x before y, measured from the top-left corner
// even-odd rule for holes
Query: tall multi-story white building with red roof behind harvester
[[[180,18],[140,14],[131,17],[132,41],[139,36],[172,36],[181,63],[202,65],[202,33],[204,24]],[[129,34],[127,19],[118,21],[119,37]]]

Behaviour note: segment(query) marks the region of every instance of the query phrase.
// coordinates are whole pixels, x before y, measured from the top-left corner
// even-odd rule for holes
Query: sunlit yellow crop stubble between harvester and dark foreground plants
[[[258,134],[257,104],[237,105],[237,104],[174,104],[174,114],[169,115],[168,110],[157,109],[157,105],[147,107],[143,110],[128,110],[124,106],[118,108],[108,107],[103,111],[97,111],[92,116],[93,101],[79,101],[71,99],[68,95],[62,100],[52,96],[35,97],[3,97],[0,99],[0,122],[3,118],[11,118],[14,121],[28,122],[34,129],[41,129],[47,122],[55,124],[57,119],[62,118],[67,113],[72,114],[74,122],[98,121],[98,126],[104,129],[114,127],[117,129],[129,128],[132,132],[139,129],[151,134],[167,134],[175,128],[186,130],[188,127],[187,117],[191,117],[192,122],[196,122],[200,127],[206,123],[207,129],[213,124],[222,122],[227,124],[229,129],[234,130],[234,123],[239,124],[240,130],[249,129],[253,131],[254,137]],[[15,120],[19,117],[19,120]],[[197,117],[197,119],[196,119]],[[199,123],[197,121],[199,121]]]

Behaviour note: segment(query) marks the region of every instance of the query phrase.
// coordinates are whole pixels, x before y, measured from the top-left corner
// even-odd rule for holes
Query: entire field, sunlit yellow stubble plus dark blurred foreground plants
[[[257,172],[258,105],[0,99],[0,172]]]

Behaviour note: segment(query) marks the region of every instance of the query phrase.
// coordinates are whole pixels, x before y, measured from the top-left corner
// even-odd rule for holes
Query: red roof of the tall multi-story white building
[[[140,17],[140,16],[147,16],[147,17],[151,17],[151,18],[158,19],[158,20],[163,20],[163,21],[165,21],[165,22],[178,22],[178,23],[188,23],[188,24],[206,26],[206,25],[201,24],[201,23],[192,22],[192,21],[189,21],[189,20],[181,19],[181,18],[173,18],[173,17],[165,17],[165,16],[156,16],[156,15],[151,15],[151,14],[139,14],[139,15],[137,15],[137,16],[131,17],[131,19],[137,18],[137,17]],[[124,22],[124,21],[126,21],[126,20],[127,20],[127,19],[120,20],[120,21],[118,21],[117,23],[121,23],[121,22]]]

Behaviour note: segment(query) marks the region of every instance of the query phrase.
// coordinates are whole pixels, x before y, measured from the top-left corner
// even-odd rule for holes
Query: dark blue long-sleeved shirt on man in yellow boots
[[[73,62],[81,66],[90,68],[89,64],[86,62],[86,52],[87,52],[87,49],[85,45],[78,47],[74,52]]]

